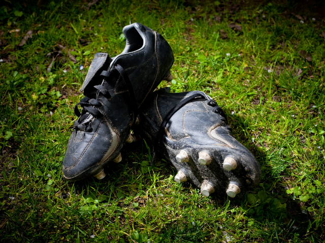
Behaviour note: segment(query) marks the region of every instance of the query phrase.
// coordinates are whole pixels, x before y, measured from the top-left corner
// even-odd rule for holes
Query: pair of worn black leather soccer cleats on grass
[[[123,33],[124,51],[113,58],[97,53],[89,67],[63,160],[64,178],[103,179],[104,166],[119,163],[123,144],[135,141],[133,129],[171,161],[178,170],[175,181],[191,181],[205,196],[226,191],[234,197],[256,186],[261,168],[231,136],[214,100],[201,91],[153,92],[161,80],[173,78],[174,56],[164,37],[140,23],[125,26]]]

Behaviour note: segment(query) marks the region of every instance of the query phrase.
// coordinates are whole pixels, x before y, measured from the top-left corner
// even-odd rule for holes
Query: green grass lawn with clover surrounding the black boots
[[[0,8],[2,242],[325,240],[325,26],[312,4],[13,3]],[[202,90],[224,109],[262,167],[257,188],[204,197],[174,182],[166,161],[148,167],[144,142],[126,145],[104,180],[62,178],[91,59],[119,54],[122,28],[133,22],[163,34],[174,51],[174,80],[160,88]]]

